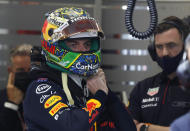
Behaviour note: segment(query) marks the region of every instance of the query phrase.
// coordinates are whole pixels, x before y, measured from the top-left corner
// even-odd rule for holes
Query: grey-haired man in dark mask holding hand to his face
[[[32,46],[22,44],[10,52],[8,82],[0,90],[0,130],[23,131],[24,119],[22,102],[30,81],[30,51]]]

